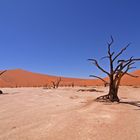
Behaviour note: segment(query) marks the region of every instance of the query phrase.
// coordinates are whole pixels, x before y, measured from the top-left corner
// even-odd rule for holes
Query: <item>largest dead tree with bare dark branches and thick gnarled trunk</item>
[[[107,58],[109,60],[109,72],[102,68],[96,59],[89,59],[99,70],[105,73],[109,77],[109,82],[105,81],[103,78],[91,75],[92,77],[98,78],[102,80],[105,84],[109,85],[109,93],[107,95],[103,95],[97,98],[97,101],[111,101],[111,102],[119,102],[120,99],[118,97],[118,89],[120,86],[121,79],[124,75],[128,75],[131,77],[138,77],[128,73],[130,69],[133,69],[133,65],[136,61],[140,61],[140,58],[130,57],[128,59],[120,60],[119,57],[126,51],[126,49],[130,46],[130,44],[126,45],[122,48],[117,54],[111,50],[112,45],[114,43],[114,39],[111,36],[111,41],[107,43],[107,56],[102,59]]]

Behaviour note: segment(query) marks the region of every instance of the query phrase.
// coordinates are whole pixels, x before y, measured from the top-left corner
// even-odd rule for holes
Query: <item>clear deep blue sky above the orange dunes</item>
[[[102,75],[87,59],[106,54],[110,35],[115,51],[131,42],[124,57],[140,56],[139,0],[0,0],[0,69]]]

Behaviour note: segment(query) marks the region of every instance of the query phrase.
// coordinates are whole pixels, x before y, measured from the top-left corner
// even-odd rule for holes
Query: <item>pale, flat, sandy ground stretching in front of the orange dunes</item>
[[[5,88],[0,140],[140,140],[140,88],[121,87],[125,103],[98,103],[79,88]]]

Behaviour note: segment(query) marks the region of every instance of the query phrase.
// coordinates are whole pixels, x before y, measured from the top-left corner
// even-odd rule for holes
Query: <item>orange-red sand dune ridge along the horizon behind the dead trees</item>
[[[140,70],[133,72],[135,75],[140,76]],[[59,76],[50,76],[45,74],[38,74],[22,69],[8,70],[0,77],[1,87],[40,87],[51,86],[51,81],[56,81]],[[65,78],[61,77],[61,86],[95,86],[103,85],[103,82],[96,79],[78,79],[78,78]],[[122,79],[121,85],[136,85],[140,86],[140,78],[132,78],[125,76]]]

